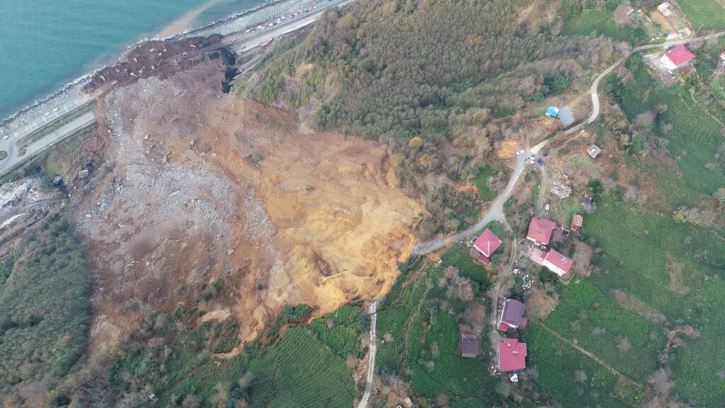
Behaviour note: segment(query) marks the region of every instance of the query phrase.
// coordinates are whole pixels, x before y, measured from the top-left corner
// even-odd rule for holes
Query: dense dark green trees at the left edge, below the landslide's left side
[[[91,274],[82,248],[54,215],[0,263],[0,396],[62,377],[86,350]]]

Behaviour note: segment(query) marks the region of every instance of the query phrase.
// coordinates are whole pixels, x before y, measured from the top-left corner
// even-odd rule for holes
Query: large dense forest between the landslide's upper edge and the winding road
[[[237,88],[283,107],[319,106],[308,118],[315,128],[386,144],[402,186],[436,214],[421,234],[460,229],[481,197],[455,185],[497,165],[511,116],[611,57],[608,39],[552,41],[561,20],[547,16],[569,3],[357,2],[328,12]]]

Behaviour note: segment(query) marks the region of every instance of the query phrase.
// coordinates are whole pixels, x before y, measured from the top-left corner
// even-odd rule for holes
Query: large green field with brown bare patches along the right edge
[[[602,293],[629,293],[664,314],[663,327],[700,330],[675,349],[674,396],[697,407],[719,406],[725,399],[723,233],[607,196],[587,219],[587,234],[602,250],[594,259],[599,272],[591,276]]]

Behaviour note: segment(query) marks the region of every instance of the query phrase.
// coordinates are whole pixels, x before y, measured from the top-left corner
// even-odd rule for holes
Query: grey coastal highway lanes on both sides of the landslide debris
[[[235,52],[243,52],[249,49],[254,49],[255,47],[265,44],[268,41],[273,40],[274,38],[282,36],[286,33],[291,33],[294,30],[299,30],[299,28],[314,23],[316,20],[318,20],[318,18],[320,18],[323,12],[325,12],[327,9],[330,9],[331,7],[339,7],[352,1],[355,0],[329,0],[326,3],[318,3],[318,7],[311,12],[299,15],[297,17],[288,18],[286,20],[283,20],[278,25],[262,28],[261,30],[257,30],[256,32],[249,34],[231,34],[223,38],[220,44],[215,44],[214,46],[210,46],[205,49],[199,49],[194,52],[189,52],[187,55],[179,57],[188,58],[201,52],[207,52],[212,49],[225,46],[231,47],[231,49],[233,49]],[[4,139],[0,140],[0,151],[4,150],[8,153],[7,158],[5,158],[4,160],[0,160],[0,176],[7,173],[7,171],[12,170],[12,168],[20,165],[20,163],[22,163],[23,161],[28,160],[28,158],[33,157],[33,155],[36,155],[38,152],[41,152],[46,148],[50,147],[52,144],[59,142],[59,140],[62,140],[65,136],[73,134],[78,129],[83,128],[83,126],[87,126],[88,123],[94,121],[93,113],[86,113],[79,118],[76,118],[75,120],[66,123],[64,126],[61,126],[56,131],[53,131],[51,134],[43,137],[43,139],[39,140],[38,142],[31,144],[24,155],[21,156],[20,152],[17,149],[17,142],[20,139],[32,134],[33,131],[36,131],[38,128],[45,126],[51,121],[62,118],[65,114],[72,112],[72,110],[75,110],[77,107],[91,102],[95,99],[95,97],[96,95],[84,94],[80,97],[65,102],[63,105],[57,107],[52,111],[43,112],[35,118],[31,118],[29,121],[17,123],[16,125],[14,125],[14,127],[13,125],[10,125],[7,136],[4,137]]]

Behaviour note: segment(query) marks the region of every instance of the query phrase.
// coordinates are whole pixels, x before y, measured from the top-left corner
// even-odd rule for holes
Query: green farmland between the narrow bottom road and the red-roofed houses
[[[463,250],[454,246],[442,256],[444,265],[426,264],[408,272],[415,272],[415,279],[390,294],[393,298],[378,311],[378,338],[389,340],[378,345],[376,370],[384,377],[397,375],[409,381],[419,398],[432,401],[445,394],[452,407],[490,407],[500,404],[501,397],[496,392],[499,381],[486,368],[485,340],[479,358],[460,356],[459,322],[446,307],[456,302],[439,285],[446,264],[457,266],[461,276],[481,274],[480,280],[487,282],[485,270],[469,264]]]

